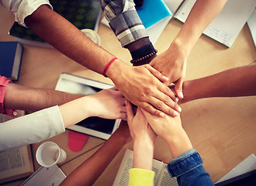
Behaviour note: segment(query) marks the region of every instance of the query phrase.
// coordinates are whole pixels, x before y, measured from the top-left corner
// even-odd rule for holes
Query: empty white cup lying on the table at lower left
[[[54,142],[42,143],[36,150],[36,160],[43,167],[60,164],[66,159],[67,153]]]

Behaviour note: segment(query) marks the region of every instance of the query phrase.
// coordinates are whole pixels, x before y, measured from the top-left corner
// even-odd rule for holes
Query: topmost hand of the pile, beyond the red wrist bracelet
[[[134,105],[157,116],[176,116],[181,112],[175,94],[161,81],[167,81],[149,64],[139,67],[126,66],[118,77],[112,78],[119,91]]]

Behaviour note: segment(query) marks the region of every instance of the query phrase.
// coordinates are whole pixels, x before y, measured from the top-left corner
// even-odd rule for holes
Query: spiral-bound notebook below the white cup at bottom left
[[[56,164],[51,167],[40,167],[19,186],[57,186],[64,181],[66,175]]]

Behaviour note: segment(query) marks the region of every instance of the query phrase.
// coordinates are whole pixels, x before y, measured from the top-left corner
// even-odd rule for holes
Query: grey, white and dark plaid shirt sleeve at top
[[[133,0],[100,0],[100,4],[109,21],[109,26],[122,47],[148,37]]]

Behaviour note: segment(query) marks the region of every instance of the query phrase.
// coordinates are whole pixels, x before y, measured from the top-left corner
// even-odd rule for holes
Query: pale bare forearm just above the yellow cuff
[[[152,171],[154,144],[145,138],[133,141],[133,168]]]

